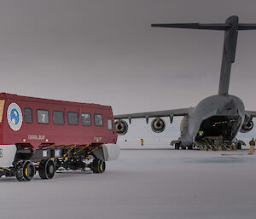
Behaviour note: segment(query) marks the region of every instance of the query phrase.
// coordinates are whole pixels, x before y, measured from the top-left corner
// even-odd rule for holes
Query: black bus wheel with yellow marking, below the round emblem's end
[[[31,181],[35,173],[35,166],[30,160],[20,161],[15,166],[15,176],[20,182]]]

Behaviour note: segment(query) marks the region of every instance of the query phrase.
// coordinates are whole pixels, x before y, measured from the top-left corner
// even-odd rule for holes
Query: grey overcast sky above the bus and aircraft
[[[150,24],[232,14],[256,23],[255,9],[253,0],[0,0],[1,91],[111,105],[114,114],[196,106],[218,92],[224,32]],[[255,58],[256,31],[239,32],[230,94],[248,110]]]

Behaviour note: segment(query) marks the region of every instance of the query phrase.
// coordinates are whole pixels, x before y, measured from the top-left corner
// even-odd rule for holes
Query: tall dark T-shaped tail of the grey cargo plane
[[[237,33],[242,30],[256,30],[256,24],[239,24],[238,16],[230,16],[224,24],[201,24],[201,23],[181,23],[181,24],[152,24],[156,27],[186,28],[200,30],[225,31],[224,49],[218,85],[218,95],[228,95],[230,86],[231,65],[235,62]]]

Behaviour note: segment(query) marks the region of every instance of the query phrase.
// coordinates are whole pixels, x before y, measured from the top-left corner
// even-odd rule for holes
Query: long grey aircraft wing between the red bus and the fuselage
[[[155,118],[155,117],[170,117],[173,118],[174,116],[185,116],[188,115],[194,107],[189,108],[181,108],[181,109],[173,109],[173,110],[163,110],[163,111],[153,111],[153,112],[138,112],[138,113],[130,113],[130,114],[121,114],[115,115],[113,118],[115,119],[125,119],[128,118]]]

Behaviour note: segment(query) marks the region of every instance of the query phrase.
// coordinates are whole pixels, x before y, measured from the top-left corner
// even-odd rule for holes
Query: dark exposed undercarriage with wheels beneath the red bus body
[[[51,179],[56,170],[92,170],[103,173],[106,170],[108,149],[103,144],[41,147],[32,153],[30,148],[20,148],[11,167],[0,168],[1,176],[16,176],[20,182],[31,181],[38,171],[42,179]]]

